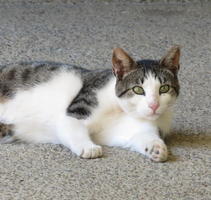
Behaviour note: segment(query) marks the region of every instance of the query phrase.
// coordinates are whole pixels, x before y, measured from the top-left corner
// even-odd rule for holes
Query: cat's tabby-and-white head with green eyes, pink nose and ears
[[[113,51],[116,95],[121,108],[139,118],[156,120],[179,94],[180,48],[172,47],[160,60],[134,61],[123,49]]]

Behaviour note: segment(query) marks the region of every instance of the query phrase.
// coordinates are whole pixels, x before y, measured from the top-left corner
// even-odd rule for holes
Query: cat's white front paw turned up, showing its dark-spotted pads
[[[168,158],[167,146],[161,139],[151,141],[145,148],[146,155],[155,162],[164,162]]]

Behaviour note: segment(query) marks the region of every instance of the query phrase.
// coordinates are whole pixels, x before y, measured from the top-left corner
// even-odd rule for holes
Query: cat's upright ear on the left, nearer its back
[[[115,48],[112,56],[113,73],[118,80],[137,68],[136,62],[121,48]]]

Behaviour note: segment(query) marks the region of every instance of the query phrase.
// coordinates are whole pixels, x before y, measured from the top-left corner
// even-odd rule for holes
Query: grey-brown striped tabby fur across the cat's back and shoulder
[[[97,106],[96,91],[112,77],[109,69],[87,70],[81,67],[56,62],[21,62],[0,67],[1,102],[12,98],[18,90],[28,90],[49,81],[59,71],[80,75],[83,86],[67,108],[67,114],[84,119]],[[73,85],[74,87],[74,85]]]

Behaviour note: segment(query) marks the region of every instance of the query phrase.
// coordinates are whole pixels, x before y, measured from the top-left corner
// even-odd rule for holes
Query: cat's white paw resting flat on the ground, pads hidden
[[[99,158],[102,157],[102,147],[96,144],[84,147],[80,157],[82,158]]]

